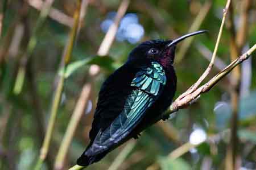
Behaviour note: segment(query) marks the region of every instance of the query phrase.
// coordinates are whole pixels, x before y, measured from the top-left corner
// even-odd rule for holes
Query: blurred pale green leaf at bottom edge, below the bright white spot
[[[191,169],[191,167],[185,160],[181,158],[172,160],[168,157],[160,158],[160,167],[163,170],[170,170],[170,169],[171,170],[180,170],[180,169],[190,170]]]

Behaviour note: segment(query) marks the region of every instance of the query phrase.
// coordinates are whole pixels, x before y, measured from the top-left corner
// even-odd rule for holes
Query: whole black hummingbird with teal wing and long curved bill
[[[126,63],[101,86],[90,143],[77,165],[86,167],[127,140],[137,139],[142,126],[150,126],[167,110],[176,92],[176,45],[204,32],[192,32],[175,40],[149,40],[130,52]]]

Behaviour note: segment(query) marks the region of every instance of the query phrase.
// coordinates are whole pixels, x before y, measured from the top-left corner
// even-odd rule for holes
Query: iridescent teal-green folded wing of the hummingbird
[[[127,97],[123,111],[108,128],[98,132],[91,147],[94,154],[109,149],[125,138],[162,93],[166,84],[166,74],[162,65],[152,62],[140,69],[131,81],[131,86],[135,88]]]

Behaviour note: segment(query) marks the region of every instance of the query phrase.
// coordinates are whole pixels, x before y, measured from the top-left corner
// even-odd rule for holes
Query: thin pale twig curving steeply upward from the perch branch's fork
[[[224,23],[225,23],[225,20],[226,20],[226,14],[228,13],[230,2],[231,2],[230,0],[228,0],[226,2],[226,6],[225,6],[225,9],[223,11],[223,18],[222,18],[222,21],[221,21],[220,31],[218,32],[218,37],[217,37],[217,41],[216,41],[215,48],[214,48],[214,51],[213,51],[212,60],[210,60],[210,64],[208,65],[208,68],[204,71],[204,73],[199,78],[199,80],[197,80],[196,83],[193,84],[191,86],[191,88],[189,88],[187,90],[187,92],[181,94],[181,96],[179,98],[183,98],[183,97],[187,96],[187,94],[190,94],[190,93],[194,92],[199,87],[201,82],[204,81],[205,77],[207,77],[208,74],[210,73],[210,70],[213,67],[213,64],[214,64],[214,61],[215,61],[215,58],[216,58],[216,55],[217,55],[218,45],[220,44],[220,38],[221,38],[221,35],[222,35],[222,30],[224,28]]]

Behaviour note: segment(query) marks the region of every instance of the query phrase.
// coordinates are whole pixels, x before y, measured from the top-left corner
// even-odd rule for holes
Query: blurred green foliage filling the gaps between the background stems
[[[0,16],[4,17],[0,20],[0,25],[2,24],[0,57],[3,51],[7,50],[7,53],[0,63],[0,169],[31,169],[34,167],[48,122],[56,76],[57,73],[63,74],[63,71],[59,71],[59,65],[70,30],[68,26],[51,17],[46,19],[38,30],[38,44],[26,65],[27,72],[22,92],[15,95],[13,88],[16,73],[19,64],[22,63],[22,56],[26,53],[28,38],[31,37],[39,18],[39,11],[25,2],[1,2]],[[139,23],[144,28],[145,32],[141,42],[148,39],[172,39],[187,33],[204,2],[199,0],[131,1],[127,13],[137,14]],[[73,3],[75,1],[55,1],[53,8],[72,18]],[[110,48],[109,56],[96,55],[105,36],[100,25],[109,12],[117,11],[119,3],[120,1],[99,0],[89,3],[73,49],[72,61],[65,72],[67,81],[65,81],[57,115],[53,142],[43,169],[52,169],[56,152],[82,86],[86,82],[93,82],[93,92],[90,95],[93,107],[89,113],[82,115],[65,160],[65,169],[76,163],[77,157],[89,143],[90,123],[102,82],[126,61],[131,49],[138,44],[115,40]],[[241,3],[241,1],[233,2],[237,28],[239,28]],[[189,88],[207,68],[209,61],[199,52],[195,44],[200,42],[213,51],[224,6],[225,1],[213,1],[200,27],[201,30],[209,30],[209,34],[196,36],[184,59],[179,64],[175,64],[176,97]],[[245,49],[256,42],[255,13],[256,3],[251,1]],[[19,26],[23,27],[23,30],[18,30]],[[22,31],[20,43],[17,42],[17,31]],[[10,45],[6,45],[8,41],[11,42]],[[217,55],[226,64],[230,62],[229,42],[230,32],[224,28]],[[238,121],[241,166],[247,169],[256,168],[256,57],[254,56],[245,61],[246,65],[242,66],[246,70],[242,73],[242,81],[247,83],[247,86],[242,86],[242,88],[247,93],[242,93],[244,91],[241,90]],[[102,68],[101,73],[93,80],[89,76],[89,67],[92,64],[97,64]],[[209,77],[213,77],[217,72],[217,69],[213,68]],[[175,113],[174,117],[167,121],[167,125],[172,125],[177,132],[180,143],[187,142],[191,132],[196,128],[202,128],[208,136],[217,136],[214,142],[204,142],[196,150],[187,152],[179,159],[170,160],[167,155],[179,147],[179,144],[168,138],[168,134],[160,126],[154,125],[143,132],[134,149],[118,169],[146,169],[155,162],[160,163],[160,168],[164,170],[204,169],[203,164],[207,163],[210,164],[209,169],[223,169],[226,146],[229,145],[229,134],[225,132],[229,130],[229,119],[232,113],[229,88],[230,84],[224,78],[209,93],[201,96],[198,102],[188,109]],[[90,169],[108,169],[122,148],[117,148],[99,163],[93,164]]]

